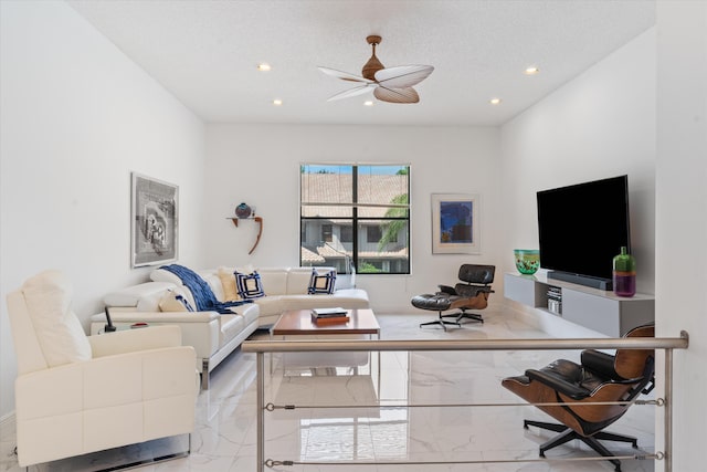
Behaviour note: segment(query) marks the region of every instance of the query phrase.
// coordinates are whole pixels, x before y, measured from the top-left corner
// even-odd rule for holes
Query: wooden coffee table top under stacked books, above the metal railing
[[[271,336],[307,336],[329,334],[368,334],[380,339],[380,326],[372,310],[347,310],[346,324],[317,325],[312,321],[312,310],[283,312],[271,328]]]

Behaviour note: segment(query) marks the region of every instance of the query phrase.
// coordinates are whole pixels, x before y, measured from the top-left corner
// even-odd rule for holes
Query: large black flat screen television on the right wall
[[[549,279],[612,290],[612,260],[631,251],[629,177],[541,190],[540,266]]]

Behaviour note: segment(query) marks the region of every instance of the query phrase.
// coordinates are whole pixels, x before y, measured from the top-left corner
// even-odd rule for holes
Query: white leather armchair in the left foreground
[[[196,353],[178,326],[86,336],[57,271],[8,295],[18,358],[18,462],[67,457],[191,433]]]

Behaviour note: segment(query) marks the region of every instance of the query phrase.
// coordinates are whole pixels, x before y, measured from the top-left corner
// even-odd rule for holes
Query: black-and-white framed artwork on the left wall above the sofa
[[[130,252],[133,268],[177,260],[179,187],[131,172]]]

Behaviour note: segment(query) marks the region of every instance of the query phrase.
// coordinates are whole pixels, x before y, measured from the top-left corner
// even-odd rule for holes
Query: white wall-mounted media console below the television
[[[545,272],[535,275],[506,273],[504,292],[506,298],[611,337],[621,337],[635,326],[655,321],[653,295],[616,296],[611,291],[548,279]],[[552,300],[558,296],[560,303]]]

